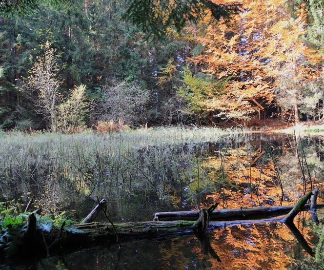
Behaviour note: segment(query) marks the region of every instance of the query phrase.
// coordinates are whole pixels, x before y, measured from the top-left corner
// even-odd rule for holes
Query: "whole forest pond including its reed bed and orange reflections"
[[[122,222],[149,221],[155,212],[198,209],[217,201],[219,209],[294,205],[304,189],[323,187],[321,137],[104,136],[39,135],[28,138],[26,145],[22,140],[10,142],[9,150],[4,144],[1,166],[9,163],[6,150],[17,155],[10,168],[0,172],[0,196],[21,198],[24,203],[33,198],[35,207],[45,213],[65,211],[75,219],[86,216],[97,197],[106,198],[109,217]],[[318,215],[322,218],[324,211],[318,210]],[[105,221],[103,216],[100,220]],[[314,248],[318,240],[310,228],[310,214],[298,214],[295,225]],[[3,262],[0,269],[296,269],[308,256],[289,229],[276,222],[225,227],[207,236],[213,252],[206,251],[195,235],[182,235],[124,242],[121,249],[111,245],[63,253],[19,266]]]

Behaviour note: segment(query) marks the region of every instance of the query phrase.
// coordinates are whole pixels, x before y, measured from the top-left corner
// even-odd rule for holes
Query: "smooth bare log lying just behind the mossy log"
[[[289,213],[294,206],[274,206],[274,207],[253,207],[253,208],[233,208],[214,210],[209,214],[211,221],[229,221],[229,220],[248,220],[262,219],[281,216]],[[317,204],[315,208],[324,208],[324,204]],[[310,209],[310,204],[306,204],[301,211]],[[197,220],[200,210],[177,211],[177,212],[157,212],[154,214],[154,221],[171,220]]]

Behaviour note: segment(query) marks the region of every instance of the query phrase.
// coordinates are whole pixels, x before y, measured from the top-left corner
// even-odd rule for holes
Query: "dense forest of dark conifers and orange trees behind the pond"
[[[0,10],[3,129],[238,123],[261,108],[296,123],[324,116],[321,0],[1,1]]]

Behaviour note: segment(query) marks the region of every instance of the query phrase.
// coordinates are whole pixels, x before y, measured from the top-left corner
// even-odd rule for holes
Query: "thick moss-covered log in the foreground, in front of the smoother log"
[[[220,228],[227,228],[236,225],[278,222],[280,219],[262,219],[262,220],[239,220],[228,222],[208,222],[205,230],[214,230]],[[144,221],[144,222],[123,222],[115,223],[118,238],[121,242],[131,241],[135,239],[149,239],[149,238],[168,238],[184,234],[194,234],[193,225],[195,221]],[[52,249],[66,248],[76,249],[81,247],[109,245],[116,243],[117,238],[114,229],[109,223],[82,223],[74,225],[75,228],[81,229],[82,233],[64,232],[61,235],[60,241],[56,241],[60,237],[58,229],[52,230],[51,233],[44,235],[46,243]]]

